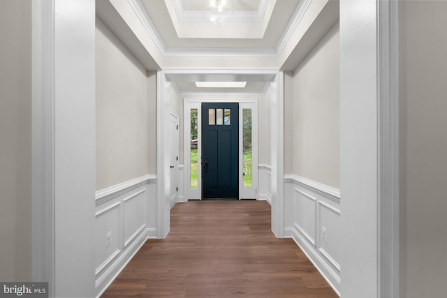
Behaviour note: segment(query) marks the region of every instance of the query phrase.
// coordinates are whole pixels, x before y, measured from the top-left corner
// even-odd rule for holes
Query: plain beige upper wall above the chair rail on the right
[[[293,174],[339,188],[338,23],[294,72],[291,138]]]

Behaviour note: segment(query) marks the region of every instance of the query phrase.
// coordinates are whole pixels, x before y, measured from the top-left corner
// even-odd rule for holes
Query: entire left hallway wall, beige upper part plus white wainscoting
[[[176,108],[176,107],[174,107]],[[156,72],[96,17],[96,296],[156,237]]]

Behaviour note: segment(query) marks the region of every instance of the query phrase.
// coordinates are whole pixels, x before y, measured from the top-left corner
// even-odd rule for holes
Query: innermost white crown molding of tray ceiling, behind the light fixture
[[[201,22],[205,20],[203,11],[185,11],[181,0],[165,0],[165,3],[166,1],[172,1],[179,22]],[[233,20],[230,22],[262,22],[269,1],[261,0],[256,11],[235,11]]]

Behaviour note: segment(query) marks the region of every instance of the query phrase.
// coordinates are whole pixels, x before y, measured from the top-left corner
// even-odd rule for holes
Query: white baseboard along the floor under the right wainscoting
[[[292,228],[292,239],[305,253],[307,258],[314,264],[316,269],[320,272],[323,278],[329,283],[330,287],[340,296],[340,277],[326,265],[325,261],[319,256],[314,249],[307,243],[298,230]]]

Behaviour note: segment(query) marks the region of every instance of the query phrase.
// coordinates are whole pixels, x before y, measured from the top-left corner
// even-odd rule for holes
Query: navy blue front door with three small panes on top
[[[202,198],[237,199],[237,103],[202,103]]]

